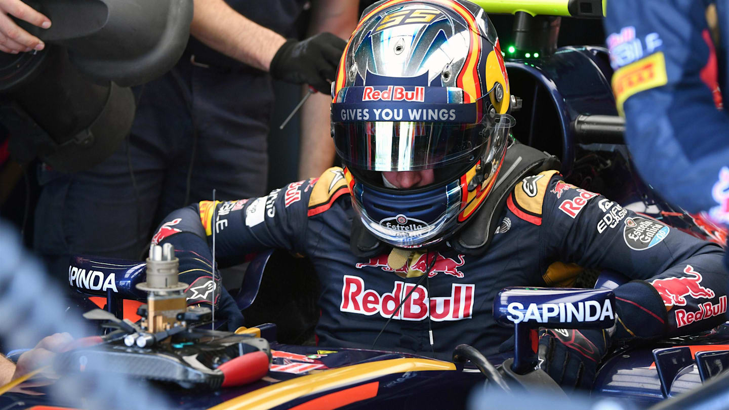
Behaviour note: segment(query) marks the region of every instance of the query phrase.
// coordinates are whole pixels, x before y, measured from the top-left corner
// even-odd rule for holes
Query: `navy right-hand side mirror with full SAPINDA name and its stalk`
[[[605,329],[615,325],[615,294],[607,289],[506,287],[494,298],[494,319],[514,327],[512,371],[526,374],[537,363],[529,333],[535,328]]]

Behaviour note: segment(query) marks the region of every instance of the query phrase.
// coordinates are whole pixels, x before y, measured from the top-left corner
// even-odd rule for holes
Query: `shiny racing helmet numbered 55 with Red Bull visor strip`
[[[332,136],[353,207],[386,244],[418,248],[447,239],[494,187],[513,118],[499,39],[476,4],[368,7],[332,98]],[[383,176],[424,170],[434,182],[407,189]]]

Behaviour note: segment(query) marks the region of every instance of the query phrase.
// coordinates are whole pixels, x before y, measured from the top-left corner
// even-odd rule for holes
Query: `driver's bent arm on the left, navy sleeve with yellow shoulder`
[[[179,279],[190,284],[187,303],[211,303],[212,293],[203,290],[209,288],[208,282],[219,282],[219,276],[212,274],[213,232],[219,266],[241,263],[247,254],[270,248],[306,255],[307,239],[316,241],[306,234],[309,219],[327,212],[348,192],[342,169],[332,168],[319,178],[293,182],[268,196],[215,204],[200,201],[165,217],[152,243],[174,245]],[[222,287],[214,288],[220,289],[215,295],[230,299]],[[217,297],[215,303],[219,303]]]

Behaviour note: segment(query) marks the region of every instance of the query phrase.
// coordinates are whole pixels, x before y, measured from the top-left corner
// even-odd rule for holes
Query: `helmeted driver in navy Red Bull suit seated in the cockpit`
[[[510,336],[491,312],[503,287],[569,286],[580,267],[620,271],[634,280],[615,290],[614,328],[539,339],[542,368],[572,387],[590,386],[615,341],[724,321],[720,247],[569,185],[555,158],[512,139],[499,40],[475,4],[373,4],[332,97],[344,169],[165,219],[153,241],[179,250],[191,289],[214,287],[213,231],[225,263],[283,248],[319,275],[320,346],[450,357],[458,344],[493,354]],[[208,293],[189,303],[217,297]],[[240,321],[221,293],[223,312]]]

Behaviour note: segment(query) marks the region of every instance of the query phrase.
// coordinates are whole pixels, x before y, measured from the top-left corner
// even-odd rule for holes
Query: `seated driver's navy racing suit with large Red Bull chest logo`
[[[566,184],[557,171],[515,185],[483,255],[443,244],[416,253],[402,271],[387,265],[389,252],[357,258],[350,251],[356,214],[342,169],[268,196],[218,202],[215,220],[213,205],[202,201],[172,212],[153,239],[182,250],[181,271],[199,268],[181,280],[209,275],[200,256],[211,258],[213,229],[216,256],[228,263],[267,248],[307,255],[321,281],[316,334],[323,347],[370,348],[393,317],[375,347],[450,354],[465,343],[492,354],[512,332],[494,322],[496,293],[507,286],[569,286],[580,266],[639,279],[615,291],[618,336],[677,336],[725,320],[729,281],[720,247]],[[427,280],[416,287],[420,277],[402,277],[408,269],[420,276],[429,271]]]

